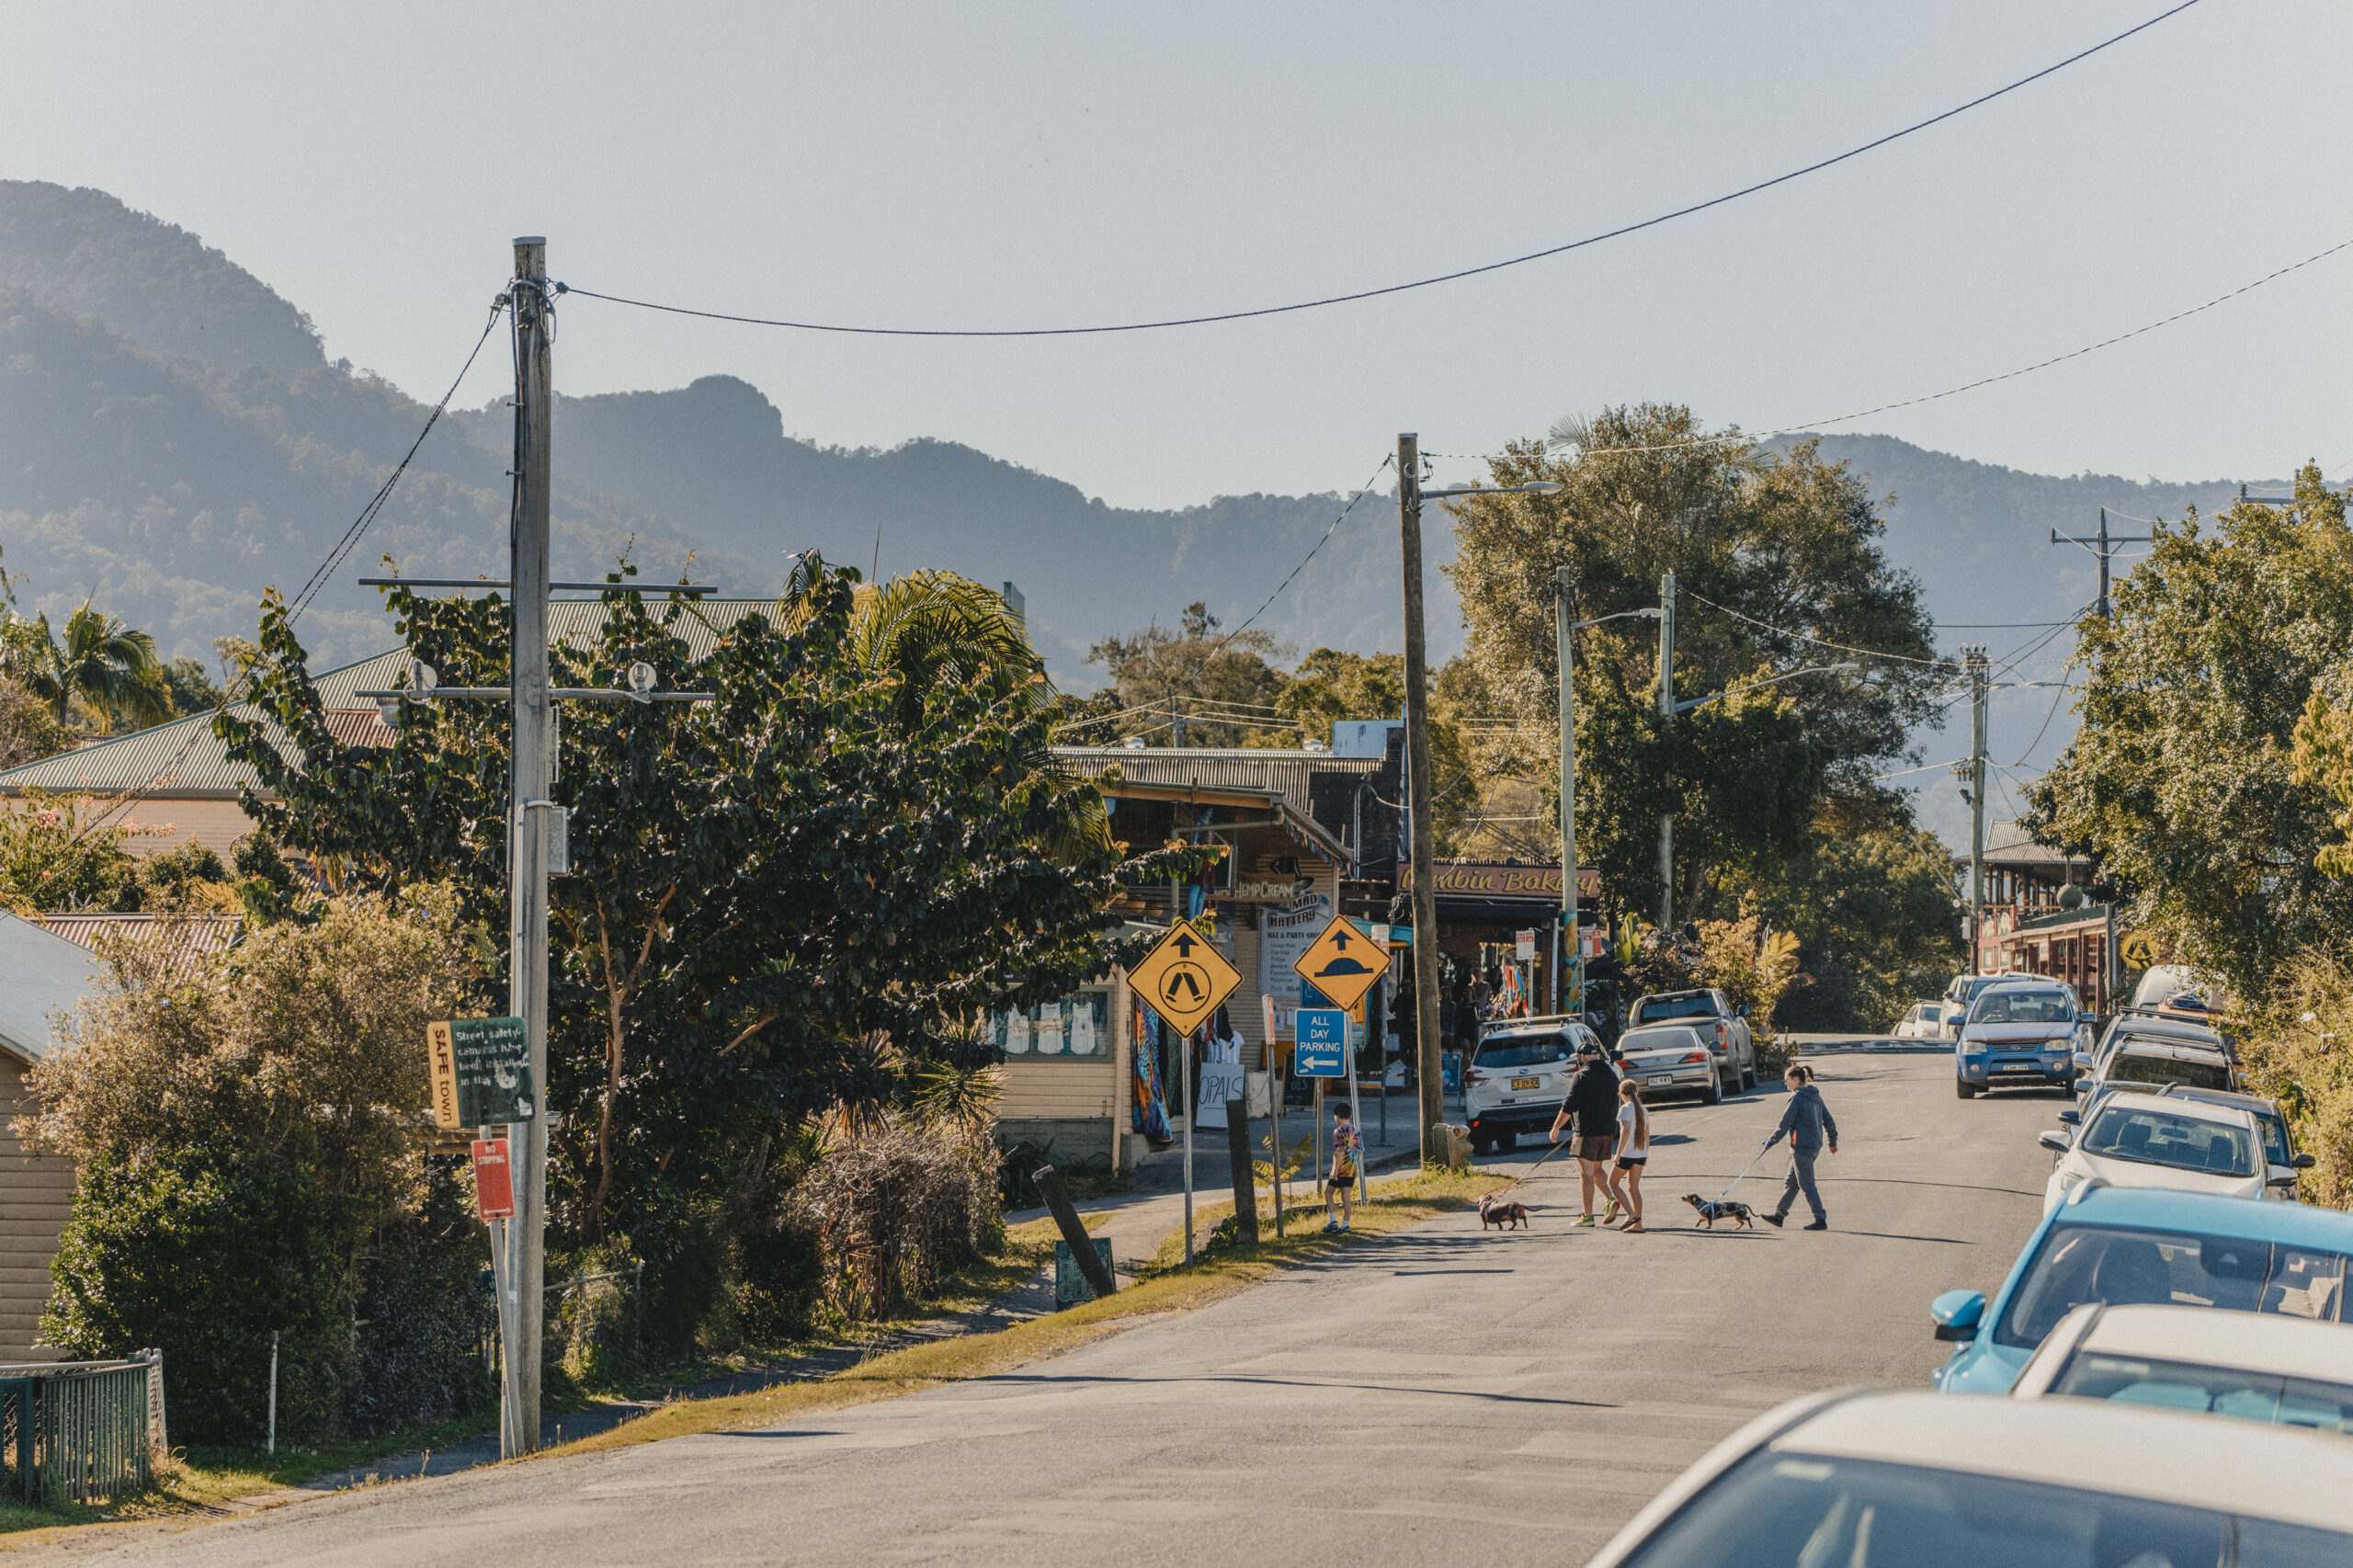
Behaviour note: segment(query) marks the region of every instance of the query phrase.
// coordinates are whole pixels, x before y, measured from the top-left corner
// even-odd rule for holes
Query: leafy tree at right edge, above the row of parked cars
[[[2137,890],[2181,961],[2261,998],[2353,930],[2353,881],[2327,855],[2332,711],[2353,699],[2346,501],[2306,466],[2294,506],[2151,532],[2115,619],[2078,629],[2082,727],[2028,791],[2028,824]]]

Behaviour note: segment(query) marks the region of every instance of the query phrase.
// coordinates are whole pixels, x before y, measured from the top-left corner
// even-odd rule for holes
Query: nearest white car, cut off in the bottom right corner
[[[1586,1568],[2313,1568],[2353,1443],[2078,1398],[1842,1389],[1718,1443]]]

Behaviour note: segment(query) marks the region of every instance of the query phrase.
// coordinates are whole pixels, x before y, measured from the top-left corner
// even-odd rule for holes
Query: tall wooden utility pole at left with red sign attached
[[[541,1102],[548,1085],[548,791],[555,784],[548,716],[548,483],[555,431],[555,332],[548,294],[548,242],[515,240],[515,513],[511,655],[513,772],[508,775],[508,1008],[522,1019],[532,1048],[532,1083]],[[520,1132],[520,1140],[515,1140]],[[520,1168],[515,1217],[504,1224],[508,1321],[499,1453],[539,1450],[539,1347],[546,1311],[548,1118],[508,1128]]]

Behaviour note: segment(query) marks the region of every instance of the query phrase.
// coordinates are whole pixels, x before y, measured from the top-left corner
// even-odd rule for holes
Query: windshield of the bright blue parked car
[[[2245,1236],[2054,1224],[2009,1293],[1993,1340],[2033,1349],[2085,1302],[2172,1302],[2334,1323],[2344,1274],[2346,1260],[2337,1253]]]

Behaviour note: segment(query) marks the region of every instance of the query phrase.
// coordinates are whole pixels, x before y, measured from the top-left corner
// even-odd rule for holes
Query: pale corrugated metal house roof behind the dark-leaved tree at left
[[[680,617],[678,636],[701,659],[718,647],[720,633],[727,626],[755,612],[767,614],[774,607],[776,600],[772,598],[704,600],[699,612]],[[555,600],[548,605],[548,638],[555,645],[588,645],[602,631],[607,612],[609,605],[602,600]],[[407,650],[395,647],[313,676],[318,699],[329,709],[327,727],[346,746],[388,744],[388,732],[376,720],[376,711],[362,704],[355,692],[395,690],[405,683],[407,666]],[[233,711],[242,718],[256,718],[252,704],[238,704]],[[271,739],[280,746],[287,744],[285,735],[273,735]],[[212,713],[191,713],[188,718],[174,718],[151,730],[118,735],[94,746],[9,768],[0,772],[0,796],[47,789],[99,796],[136,793],[146,800],[233,800],[240,789],[254,782],[252,768],[228,760],[228,742],[212,732]]]

